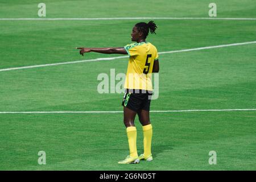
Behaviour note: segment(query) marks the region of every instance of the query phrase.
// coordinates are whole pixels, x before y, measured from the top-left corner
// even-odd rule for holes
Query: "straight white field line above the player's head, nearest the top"
[[[256,20],[256,18],[196,18],[196,17],[119,17],[119,18],[0,18],[0,20],[135,20],[135,19],[162,19],[162,20]]]

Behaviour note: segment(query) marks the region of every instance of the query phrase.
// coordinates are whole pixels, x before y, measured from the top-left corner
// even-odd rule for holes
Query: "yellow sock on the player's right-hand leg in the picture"
[[[143,129],[143,144],[144,144],[144,156],[147,158],[151,154],[151,141],[152,141],[152,125],[142,126]]]

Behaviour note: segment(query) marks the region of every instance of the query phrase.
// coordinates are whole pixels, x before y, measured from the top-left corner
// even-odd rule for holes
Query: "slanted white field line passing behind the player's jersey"
[[[191,48],[191,49],[181,49],[181,50],[177,50],[177,51],[159,52],[159,54],[176,53],[176,52],[188,52],[188,51],[199,51],[199,50],[203,50],[203,49],[212,49],[212,48],[230,47],[230,46],[241,46],[241,45],[245,45],[245,44],[255,44],[255,43],[256,43],[256,41],[243,42],[243,43],[234,43],[234,44],[224,44],[224,45],[219,45],[219,46],[208,46],[208,47],[199,47],[199,48]],[[89,61],[114,60],[114,59],[121,59],[121,58],[126,58],[126,57],[129,57],[129,56],[105,57],[105,58],[103,57],[103,58],[97,58],[97,59],[69,61],[69,62],[63,62],[63,63],[40,64],[40,65],[31,65],[31,66],[27,66],[27,67],[5,68],[5,69],[0,69],[0,72],[11,71],[11,70],[15,70],[15,69],[28,69],[28,68],[38,68],[38,67],[49,67],[49,66],[62,65],[62,64],[84,63],[84,62],[89,62]]]

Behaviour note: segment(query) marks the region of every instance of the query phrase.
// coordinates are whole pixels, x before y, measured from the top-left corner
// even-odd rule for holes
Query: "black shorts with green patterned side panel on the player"
[[[152,91],[139,90],[139,92],[134,90],[126,90],[125,96],[123,96],[122,106],[127,107],[133,111],[138,112],[139,110],[150,111],[150,101],[152,96]]]

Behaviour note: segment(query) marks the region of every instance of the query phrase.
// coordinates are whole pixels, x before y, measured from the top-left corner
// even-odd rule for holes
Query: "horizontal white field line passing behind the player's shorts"
[[[196,109],[196,110],[152,110],[151,113],[180,113],[200,111],[256,111],[256,109]],[[123,113],[123,111],[2,111],[0,114],[63,114],[63,113]]]

